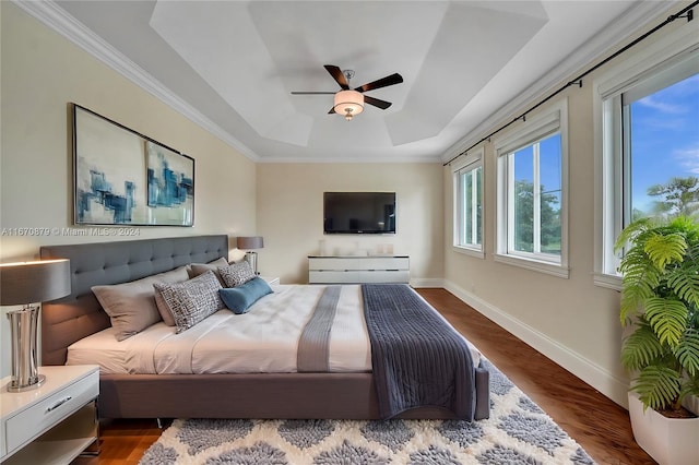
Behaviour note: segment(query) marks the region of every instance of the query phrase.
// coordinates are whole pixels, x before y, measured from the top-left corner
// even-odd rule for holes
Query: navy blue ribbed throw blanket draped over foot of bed
[[[443,407],[473,420],[475,368],[465,341],[404,284],[365,284],[364,314],[379,414]]]

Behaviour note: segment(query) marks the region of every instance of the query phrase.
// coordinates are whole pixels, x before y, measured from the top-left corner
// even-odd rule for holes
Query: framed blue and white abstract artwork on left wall
[[[73,107],[76,225],[192,226],[194,159]]]

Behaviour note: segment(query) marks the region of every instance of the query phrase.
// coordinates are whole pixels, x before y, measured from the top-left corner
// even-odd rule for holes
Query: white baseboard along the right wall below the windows
[[[590,384],[592,388],[600,391],[616,404],[628,408],[628,380],[619,379],[606,369],[571,350],[569,347],[552,339],[546,334],[521,322],[520,320],[512,318],[503,310],[490,305],[478,296],[466,291],[455,284],[446,281],[442,287],[466,305],[473,307],[475,310],[493,320],[499,326],[509,331],[566,370]]]

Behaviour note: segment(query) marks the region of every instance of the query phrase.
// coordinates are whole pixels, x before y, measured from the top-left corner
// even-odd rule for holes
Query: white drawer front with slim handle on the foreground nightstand
[[[99,395],[99,372],[94,371],[75,383],[8,418],[7,452],[25,445],[32,439],[66,419]]]

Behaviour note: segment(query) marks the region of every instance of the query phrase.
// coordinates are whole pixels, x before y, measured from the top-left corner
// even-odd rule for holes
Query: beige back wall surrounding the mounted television
[[[282,283],[307,283],[307,255],[325,241],[332,253],[368,253],[393,247],[411,257],[411,282],[429,284],[443,270],[441,164],[260,164],[258,233],[264,237],[258,267]],[[396,234],[324,236],[324,191],[396,193]]]

